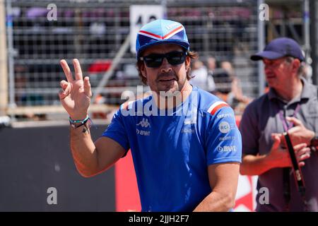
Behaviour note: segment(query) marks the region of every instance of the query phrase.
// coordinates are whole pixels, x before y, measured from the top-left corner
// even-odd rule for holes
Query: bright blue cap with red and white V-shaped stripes
[[[153,20],[143,25],[136,38],[136,57],[139,59],[141,52],[156,44],[178,44],[189,50],[189,41],[181,23],[172,20]]]

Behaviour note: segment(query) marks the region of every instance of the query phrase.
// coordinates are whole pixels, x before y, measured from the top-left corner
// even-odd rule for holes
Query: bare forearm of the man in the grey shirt
[[[266,160],[266,155],[245,155],[240,166],[240,174],[260,175],[271,168],[271,164]]]

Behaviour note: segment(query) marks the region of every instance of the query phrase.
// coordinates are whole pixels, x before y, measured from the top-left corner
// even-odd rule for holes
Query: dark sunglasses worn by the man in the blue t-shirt
[[[187,52],[173,51],[167,52],[166,54],[149,54],[139,59],[145,61],[149,68],[158,68],[158,66],[163,64],[163,59],[167,59],[171,65],[178,65],[184,63],[186,56]]]

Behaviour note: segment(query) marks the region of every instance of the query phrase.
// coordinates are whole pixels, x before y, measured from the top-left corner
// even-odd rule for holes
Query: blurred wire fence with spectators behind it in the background
[[[56,20],[47,19],[49,4],[0,0],[5,47],[0,115],[11,121],[66,119],[57,96],[63,79],[59,59],[78,58],[90,76],[97,104],[91,107],[93,118],[109,119],[107,114],[125,101],[122,93],[136,93],[142,83],[134,52],[125,45],[131,5],[163,6],[167,18],[186,27],[191,49],[199,53],[192,62],[192,84],[230,103],[237,115],[266,91],[262,70],[249,56],[275,37],[292,37],[302,45],[304,75],[312,80],[305,1],[57,0]],[[260,4],[269,6],[269,20],[259,20]],[[146,22],[141,18],[135,25]]]

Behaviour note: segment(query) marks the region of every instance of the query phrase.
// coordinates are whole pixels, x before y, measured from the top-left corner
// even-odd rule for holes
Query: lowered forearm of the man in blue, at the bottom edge
[[[194,212],[228,212],[235,206],[235,195],[221,194],[212,191],[201,203],[196,206]]]

